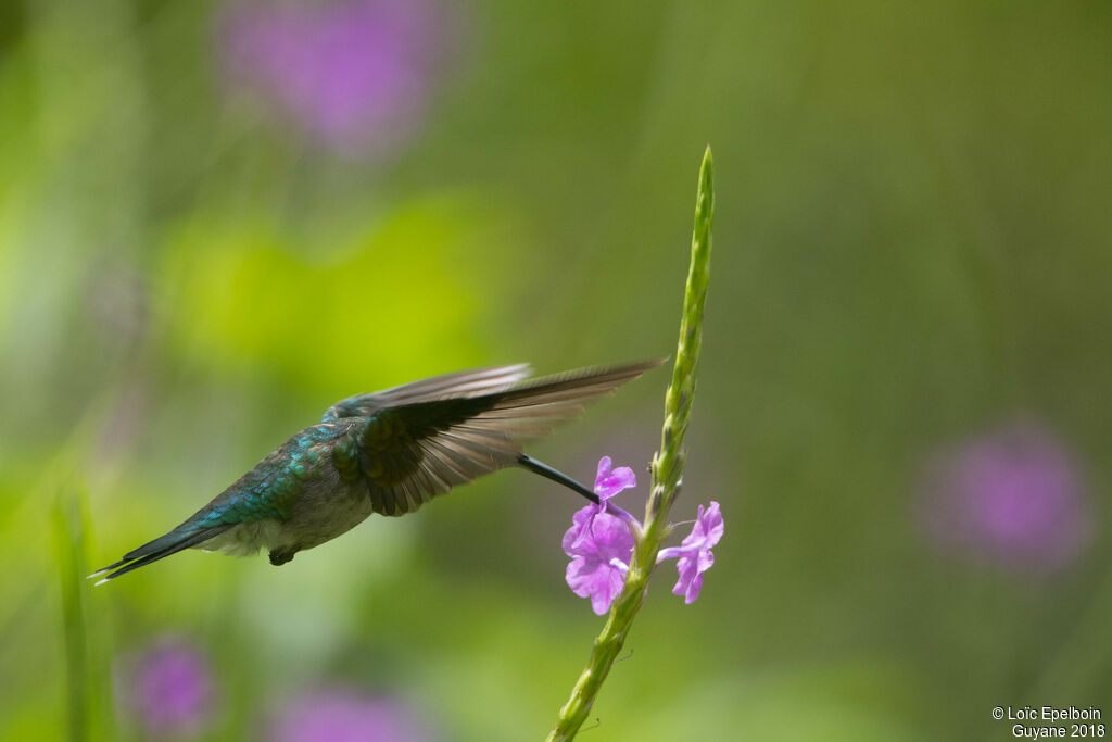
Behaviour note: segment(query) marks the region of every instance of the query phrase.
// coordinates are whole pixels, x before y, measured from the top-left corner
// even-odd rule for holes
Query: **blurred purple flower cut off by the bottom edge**
[[[355,689],[314,691],[287,703],[274,721],[275,742],[424,742],[429,731],[403,702]]]

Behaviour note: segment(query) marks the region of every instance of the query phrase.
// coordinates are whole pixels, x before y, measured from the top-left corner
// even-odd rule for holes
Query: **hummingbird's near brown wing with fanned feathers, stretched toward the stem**
[[[436,495],[507,466],[522,465],[562,481],[558,473],[538,471],[552,472],[525,456],[522,445],[547,435],[554,424],[578,417],[584,402],[614,392],[663,362],[509,383],[506,379],[524,368],[485,369],[479,373],[499,379],[494,390],[475,379],[467,383],[477,383],[478,388],[456,390],[451,384],[430,384],[419,389],[436,382],[429,379],[411,385],[410,390],[418,390],[398,406],[383,406],[377,395],[366,395],[358,404],[377,410],[350,428],[334,448],[334,462],[346,481],[366,478],[374,509],[383,515],[410,513]],[[337,407],[342,409],[349,402]],[[573,488],[583,489],[582,485]]]

